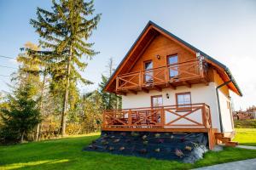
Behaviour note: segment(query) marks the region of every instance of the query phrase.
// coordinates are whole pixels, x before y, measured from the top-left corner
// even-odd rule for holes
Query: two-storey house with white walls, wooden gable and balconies
[[[141,137],[145,140],[152,133],[163,138],[172,133],[172,139],[174,134],[201,133],[207,136],[209,149],[219,143],[237,144],[231,142],[235,130],[230,91],[242,94],[228,67],[152,21],[110,77],[105,91],[122,95],[122,110],[103,112],[105,136],[145,133]]]

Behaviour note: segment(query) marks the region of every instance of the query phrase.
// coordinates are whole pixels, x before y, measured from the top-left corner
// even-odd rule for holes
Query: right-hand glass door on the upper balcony
[[[169,66],[169,77],[174,78],[178,76],[177,54],[167,56],[167,64]]]

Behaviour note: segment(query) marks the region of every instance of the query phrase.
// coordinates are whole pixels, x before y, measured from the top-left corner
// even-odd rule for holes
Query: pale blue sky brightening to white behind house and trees
[[[25,42],[37,43],[29,20],[36,18],[37,7],[50,6],[50,0],[0,0],[0,55],[15,58]],[[95,84],[79,86],[81,91],[97,88],[108,59],[118,65],[152,20],[230,67],[244,94],[232,95],[236,109],[256,105],[256,1],[96,0],[95,8],[102,20],[90,42],[100,54],[82,73]],[[0,58],[0,65],[17,67],[14,59]],[[0,67],[0,75],[12,71]],[[9,91],[8,82],[9,77],[0,77],[0,90]]]

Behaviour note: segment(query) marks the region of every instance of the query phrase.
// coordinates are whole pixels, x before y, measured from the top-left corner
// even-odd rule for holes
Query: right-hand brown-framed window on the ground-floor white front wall
[[[191,109],[191,94],[190,92],[176,94],[177,109]]]

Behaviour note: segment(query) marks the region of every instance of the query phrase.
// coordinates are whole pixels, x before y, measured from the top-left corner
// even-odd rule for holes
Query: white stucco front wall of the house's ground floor
[[[216,84],[215,82],[210,82],[208,86],[205,84],[194,84],[191,88],[186,86],[179,86],[175,90],[172,88],[163,88],[162,92],[159,91],[149,91],[149,93],[138,92],[138,94],[127,94],[122,97],[122,106],[123,109],[129,108],[139,108],[139,107],[150,107],[151,106],[151,96],[153,95],[162,95],[163,96],[163,105],[176,105],[176,96],[177,93],[190,92],[191,93],[191,102],[193,103],[206,103],[210,106],[212,114],[212,127],[218,128],[219,118],[218,118],[218,103],[216,96]],[[169,99],[166,98],[166,94],[169,94]],[[168,114],[171,115],[171,114]],[[201,122],[201,116],[199,114],[193,114],[193,119]],[[166,122],[169,121],[172,117],[166,117]],[[187,122],[186,120],[181,120]]]

